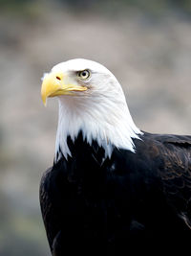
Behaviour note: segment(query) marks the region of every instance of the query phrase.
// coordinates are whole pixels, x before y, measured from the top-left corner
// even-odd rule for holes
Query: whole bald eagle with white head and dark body
[[[55,65],[41,96],[59,103],[53,167],[40,184],[52,254],[132,255],[151,245],[183,252],[191,244],[191,136],[137,128],[119,82],[95,61]]]

